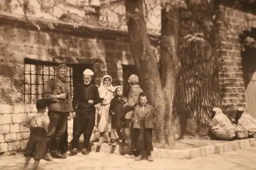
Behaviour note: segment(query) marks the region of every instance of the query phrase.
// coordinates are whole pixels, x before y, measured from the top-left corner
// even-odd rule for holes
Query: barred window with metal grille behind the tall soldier
[[[59,63],[43,62],[38,60],[25,59],[24,70],[24,98],[25,104],[35,104],[41,99],[42,90],[47,80],[56,76],[56,67]],[[73,68],[68,66],[68,73],[65,77],[70,84],[70,93],[73,98]]]

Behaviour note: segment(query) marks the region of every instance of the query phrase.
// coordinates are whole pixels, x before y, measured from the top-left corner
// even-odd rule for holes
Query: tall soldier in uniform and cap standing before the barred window
[[[51,161],[55,158],[66,158],[59,150],[61,137],[65,134],[68,117],[73,112],[70,86],[65,81],[68,67],[66,64],[57,66],[57,76],[46,82],[42,98],[49,102],[48,115],[50,118],[47,155],[45,160]],[[52,155],[50,154],[52,151]]]

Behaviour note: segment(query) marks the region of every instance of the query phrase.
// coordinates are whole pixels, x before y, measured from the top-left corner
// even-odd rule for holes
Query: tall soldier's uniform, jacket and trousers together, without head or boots
[[[57,99],[57,95],[66,93],[66,99]],[[69,84],[58,78],[46,82],[42,98],[48,100],[50,118],[47,150],[57,150],[62,135],[65,133],[69,113],[73,112]]]

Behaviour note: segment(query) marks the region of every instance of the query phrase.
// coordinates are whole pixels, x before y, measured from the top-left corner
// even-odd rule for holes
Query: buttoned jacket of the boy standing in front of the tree
[[[155,109],[151,105],[144,106],[144,112],[142,106],[136,106],[134,109],[134,122],[133,122],[133,128],[140,129],[140,119],[145,120],[145,128],[153,128],[154,127],[154,117],[156,115]]]

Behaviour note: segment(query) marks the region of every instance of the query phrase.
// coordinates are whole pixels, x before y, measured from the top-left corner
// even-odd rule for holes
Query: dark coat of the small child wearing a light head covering
[[[110,102],[110,115],[112,117],[111,119],[111,125],[112,128],[121,128],[124,126],[125,121],[125,110],[123,109],[123,105],[125,104],[126,98],[123,97],[123,99],[119,99],[117,96],[115,96],[114,99]],[[112,113],[115,113],[114,115]]]

